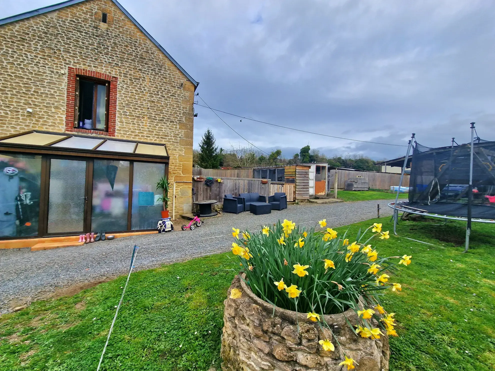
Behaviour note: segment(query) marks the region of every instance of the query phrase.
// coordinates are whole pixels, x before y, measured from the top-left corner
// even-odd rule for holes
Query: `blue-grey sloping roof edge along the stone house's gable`
[[[21,19],[33,17],[35,15],[40,15],[40,14],[48,13],[49,11],[58,10],[58,9],[61,9],[61,8],[66,7],[66,6],[78,4],[78,3],[83,2],[83,1],[87,1],[87,0],[67,0],[67,1],[59,2],[58,4],[45,6],[43,8],[39,8],[39,9],[35,9],[35,10],[24,12],[24,13],[21,13],[21,14],[13,15],[11,17],[3,18],[3,19],[0,19],[0,26],[1,25],[4,25],[4,24],[7,24],[7,23],[19,21]],[[161,46],[160,44],[158,44],[158,42],[155,39],[153,39],[153,37],[150,34],[148,34],[148,31],[146,31],[143,28],[143,26],[141,26],[138,23],[138,21],[136,19],[134,19],[134,17],[117,0],[112,0],[112,1],[148,37],[148,39],[151,40],[151,42],[154,45],[156,45],[158,47],[158,49],[160,49],[163,52],[163,54],[165,54],[170,59],[170,61],[173,64],[175,64],[175,66],[184,75],[186,75],[186,77],[189,79],[189,81],[191,81],[194,84],[194,86],[197,88],[198,85],[199,85],[199,83],[195,79],[193,79],[186,72],[186,70],[184,68],[182,68],[182,66],[179,63],[176,62],[176,60],[174,58],[172,58],[172,56],[163,48],[163,46]]]

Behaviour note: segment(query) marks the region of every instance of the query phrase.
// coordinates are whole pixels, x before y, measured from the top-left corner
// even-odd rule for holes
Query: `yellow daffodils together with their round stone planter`
[[[389,369],[396,319],[381,297],[401,290],[387,273],[411,256],[378,255],[369,242],[389,238],[381,224],[350,241],[325,227],[284,220],[256,233],[233,229],[241,274],[224,301],[222,370]]]

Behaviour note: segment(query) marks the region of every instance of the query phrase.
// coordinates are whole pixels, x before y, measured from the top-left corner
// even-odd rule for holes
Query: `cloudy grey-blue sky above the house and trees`
[[[0,18],[54,2],[0,0]],[[120,2],[200,82],[213,108],[349,139],[407,144],[414,132],[427,146],[468,141],[475,121],[480,137],[495,140],[493,0]],[[195,108],[195,147],[207,128],[223,148],[247,145]],[[286,157],[306,144],[377,160],[406,149],[219,115]]]

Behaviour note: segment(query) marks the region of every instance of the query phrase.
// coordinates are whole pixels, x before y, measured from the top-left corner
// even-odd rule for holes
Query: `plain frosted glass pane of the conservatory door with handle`
[[[50,160],[48,232],[83,232],[86,161]]]

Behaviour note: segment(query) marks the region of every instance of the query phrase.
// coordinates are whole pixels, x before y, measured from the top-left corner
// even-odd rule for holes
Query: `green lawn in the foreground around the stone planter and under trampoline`
[[[379,221],[392,231],[389,218]],[[494,370],[494,228],[474,223],[475,249],[462,254],[463,225],[434,224],[403,222],[398,232],[435,246],[394,235],[374,243],[383,255],[412,255],[407,268],[391,275],[402,291],[383,300],[396,313],[400,336],[391,339],[390,370]],[[222,302],[235,274],[229,269],[238,268],[229,256],[133,274],[102,370],[220,370]],[[96,370],[124,282],[1,316],[0,370]]]

